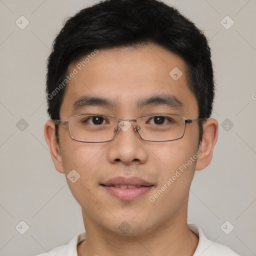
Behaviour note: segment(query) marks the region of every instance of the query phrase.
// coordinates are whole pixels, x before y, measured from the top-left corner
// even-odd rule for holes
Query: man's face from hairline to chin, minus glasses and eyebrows
[[[65,88],[61,121],[82,113],[136,119],[144,114],[167,112],[198,118],[185,62],[158,45],[99,49],[81,70],[77,63],[69,66],[69,73],[73,68],[78,73]],[[179,78],[181,73],[177,71],[169,74],[173,68],[182,72]],[[137,103],[163,95],[181,104]],[[104,97],[114,104],[81,104],[73,110],[74,102],[83,96]],[[186,125],[182,138],[165,142],[142,140],[132,128],[133,123],[126,131],[120,129],[113,140],[101,143],[75,141],[67,126],[58,127],[61,164],[55,166],[65,175],[73,169],[80,175],[74,183],[67,178],[67,183],[81,205],[85,228],[94,225],[137,235],[163,224],[186,221],[188,188],[197,158],[197,122]],[[113,186],[118,184],[129,184],[131,188]]]

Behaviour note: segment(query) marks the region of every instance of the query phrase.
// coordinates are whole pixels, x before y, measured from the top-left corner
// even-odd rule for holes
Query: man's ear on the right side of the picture
[[[211,161],[213,148],[217,142],[218,122],[214,118],[208,118],[203,123],[203,135],[200,141],[198,151],[200,155],[197,158],[195,170],[201,170],[208,166]]]

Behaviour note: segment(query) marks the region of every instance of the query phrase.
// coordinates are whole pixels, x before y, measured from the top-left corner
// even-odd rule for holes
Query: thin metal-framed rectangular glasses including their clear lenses
[[[182,115],[157,113],[136,119],[118,119],[105,114],[75,114],[67,121],[54,120],[55,124],[67,125],[73,140],[88,143],[111,141],[117,132],[132,128],[141,139],[147,141],[171,141],[182,138],[187,123],[204,119],[186,119]]]

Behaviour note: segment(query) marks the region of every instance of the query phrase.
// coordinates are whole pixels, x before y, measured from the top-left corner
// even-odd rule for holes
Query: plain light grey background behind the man
[[[93,2],[0,0],[0,255],[44,252],[84,229],[80,206],[44,140],[44,86],[45,61],[62,22]],[[217,89],[212,117],[219,122],[219,138],[211,164],[194,176],[188,221],[209,239],[256,255],[256,1],[165,2],[210,40]],[[24,29],[15,23],[21,15],[29,21]],[[226,15],[234,21],[229,29],[223,26],[231,24]],[[29,226],[23,235],[21,220]]]

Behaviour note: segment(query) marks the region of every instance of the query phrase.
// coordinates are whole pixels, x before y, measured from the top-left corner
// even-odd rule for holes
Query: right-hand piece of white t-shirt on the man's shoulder
[[[188,227],[199,237],[199,242],[193,256],[239,256],[229,247],[208,240],[200,227],[193,224],[188,224]]]

